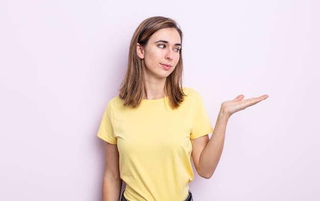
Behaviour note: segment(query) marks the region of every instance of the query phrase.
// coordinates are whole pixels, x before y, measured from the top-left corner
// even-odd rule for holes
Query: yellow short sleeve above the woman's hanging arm
[[[105,140],[107,143],[113,145],[117,144],[117,138],[114,136],[113,132],[113,112],[110,103],[107,105],[102,116],[97,136]]]

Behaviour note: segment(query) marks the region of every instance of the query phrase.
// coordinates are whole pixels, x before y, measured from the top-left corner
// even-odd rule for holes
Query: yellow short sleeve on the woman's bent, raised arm
[[[196,111],[194,117],[194,124],[191,131],[190,139],[202,137],[213,132],[213,128],[205,110],[202,97],[199,95],[196,102]]]

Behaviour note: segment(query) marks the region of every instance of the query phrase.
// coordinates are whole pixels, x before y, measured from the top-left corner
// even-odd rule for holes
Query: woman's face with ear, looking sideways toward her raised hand
[[[144,47],[137,44],[136,48],[145,80],[165,79],[179,62],[181,38],[175,28],[164,28],[151,35]]]

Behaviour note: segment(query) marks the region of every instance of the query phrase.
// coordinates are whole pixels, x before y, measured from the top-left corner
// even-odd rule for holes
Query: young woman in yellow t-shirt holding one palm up
[[[170,18],[147,18],[135,30],[119,96],[108,103],[98,131],[106,142],[103,200],[119,200],[122,180],[122,200],[192,200],[191,156],[197,173],[210,178],[229,117],[268,97],[222,103],[213,129],[200,95],[182,87],[181,44]]]

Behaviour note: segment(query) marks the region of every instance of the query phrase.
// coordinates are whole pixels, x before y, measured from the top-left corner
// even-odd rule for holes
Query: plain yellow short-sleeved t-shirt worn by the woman
[[[194,178],[190,139],[213,131],[201,96],[184,88],[187,95],[177,109],[168,98],[142,100],[137,108],[123,100],[110,100],[98,136],[119,150],[120,177],[128,200],[177,201],[188,195]]]

